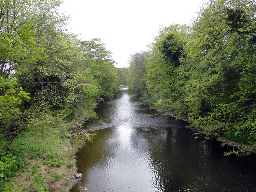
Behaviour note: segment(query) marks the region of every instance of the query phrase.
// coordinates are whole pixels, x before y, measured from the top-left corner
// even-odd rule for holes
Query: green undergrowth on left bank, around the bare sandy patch
[[[0,149],[0,191],[48,191],[46,175],[39,171],[39,164],[35,164],[29,170],[29,159],[41,160],[48,167],[60,167],[66,164],[68,167],[75,165],[73,159],[76,149],[81,147],[85,140],[91,140],[93,135],[84,132],[71,143],[71,134],[67,131],[71,126],[62,120],[55,124],[44,123],[36,129],[30,128],[20,132],[8,148]],[[1,146],[7,146],[6,140],[0,141]],[[8,152],[6,152],[8,151]],[[32,178],[28,186],[20,184],[12,179],[17,172],[26,172]],[[46,172],[47,174],[47,172]],[[24,178],[26,179],[26,178]],[[55,176],[54,180],[60,179]]]

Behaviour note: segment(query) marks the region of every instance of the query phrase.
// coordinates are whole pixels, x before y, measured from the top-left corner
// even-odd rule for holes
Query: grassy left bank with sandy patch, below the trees
[[[81,133],[71,139],[73,123],[55,118],[17,134],[8,149],[0,150],[0,191],[69,189],[76,182],[75,152],[93,137]],[[7,144],[8,139],[1,140],[1,146]]]

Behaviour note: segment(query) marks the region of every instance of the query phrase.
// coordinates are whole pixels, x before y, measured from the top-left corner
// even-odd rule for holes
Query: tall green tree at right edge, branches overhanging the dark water
[[[255,8],[252,1],[210,1],[194,23],[185,100],[191,127],[205,135],[256,141]]]

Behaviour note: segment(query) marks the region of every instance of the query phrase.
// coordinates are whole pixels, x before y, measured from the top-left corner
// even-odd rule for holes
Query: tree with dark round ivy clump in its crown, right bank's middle
[[[161,29],[152,44],[153,56],[146,65],[146,86],[152,102],[162,110],[175,110],[180,98],[177,71],[186,57],[183,47],[187,36],[187,26],[172,25]]]

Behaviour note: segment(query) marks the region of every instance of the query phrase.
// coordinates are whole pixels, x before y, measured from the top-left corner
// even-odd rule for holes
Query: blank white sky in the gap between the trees
[[[116,67],[131,54],[147,50],[161,27],[190,24],[205,0],[64,0],[60,12],[71,16],[69,31],[82,40],[100,38]]]

